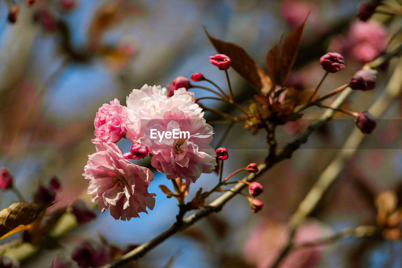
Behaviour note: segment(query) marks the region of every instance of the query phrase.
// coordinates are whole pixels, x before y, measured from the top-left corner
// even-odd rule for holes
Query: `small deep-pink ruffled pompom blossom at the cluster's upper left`
[[[119,141],[126,131],[124,106],[120,105],[117,98],[111,101],[110,104],[103,104],[96,113],[94,125],[96,138],[91,140],[92,143]]]

